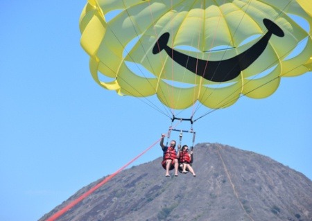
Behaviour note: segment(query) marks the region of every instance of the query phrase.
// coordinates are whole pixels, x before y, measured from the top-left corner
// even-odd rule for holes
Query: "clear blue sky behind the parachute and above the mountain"
[[[0,220],[39,219],[121,168],[171,123],[141,100],[96,85],[80,47],[85,3],[0,1]],[[241,98],[209,114],[194,125],[196,143],[264,154],[312,179],[311,84],[311,73],[283,78],[269,98]],[[160,156],[157,144],[135,164]]]

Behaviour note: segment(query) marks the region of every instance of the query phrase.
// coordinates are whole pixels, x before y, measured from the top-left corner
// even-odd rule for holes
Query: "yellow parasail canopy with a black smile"
[[[270,96],[282,76],[311,70],[311,26],[291,0],[89,0],[80,17],[99,85],[174,109]]]

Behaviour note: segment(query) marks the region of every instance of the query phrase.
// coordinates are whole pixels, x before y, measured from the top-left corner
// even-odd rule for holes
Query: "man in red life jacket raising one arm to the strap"
[[[164,145],[165,136],[165,134],[162,134],[162,141],[160,141],[160,146],[162,147],[162,151],[164,152],[162,167],[166,170],[166,177],[170,177],[169,170],[173,170],[173,168],[175,169],[175,177],[177,177],[177,169],[179,167],[177,159],[179,159],[180,153],[175,152],[175,141],[171,141],[168,147]]]

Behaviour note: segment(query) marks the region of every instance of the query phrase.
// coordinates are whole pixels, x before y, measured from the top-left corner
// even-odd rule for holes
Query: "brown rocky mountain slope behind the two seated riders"
[[[268,157],[201,143],[194,148],[197,177],[165,177],[161,161],[123,170],[58,220],[312,220],[311,180]]]

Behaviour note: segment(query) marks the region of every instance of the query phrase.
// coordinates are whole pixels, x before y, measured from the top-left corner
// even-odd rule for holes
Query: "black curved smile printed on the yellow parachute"
[[[164,33],[157,40],[153,54],[157,54],[163,49],[177,64],[182,65],[189,71],[198,76],[202,76],[213,82],[226,82],[239,76],[241,71],[247,69],[259,56],[263,53],[268,45],[270,37],[276,35],[284,37],[284,31],[269,19],[263,19],[263,24],[268,28],[268,33],[264,35],[256,44],[248,48],[243,53],[236,55],[234,58],[220,61],[207,61],[193,58],[189,55],[184,55],[179,51],[167,46],[169,33]],[[209,68],[207,68],[209,67]]]

